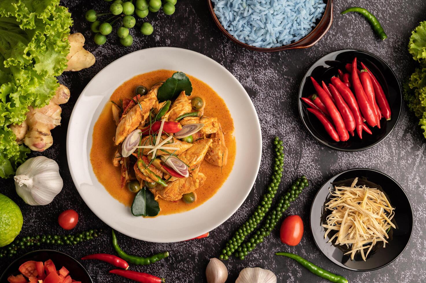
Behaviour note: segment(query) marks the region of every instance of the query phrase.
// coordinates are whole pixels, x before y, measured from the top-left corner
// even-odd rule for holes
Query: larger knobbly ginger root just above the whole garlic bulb
[[[66,103],[69,96],[69,89],[60,85],[48,105],[37,109],[30,106],[26,120],[20,125],[10,126],[16,135],[16,142],[19,144],[24,142],[31,150],[37,152],[52,146],[53,138],[50,130],[60,125],[62,109],[59,104]]]

